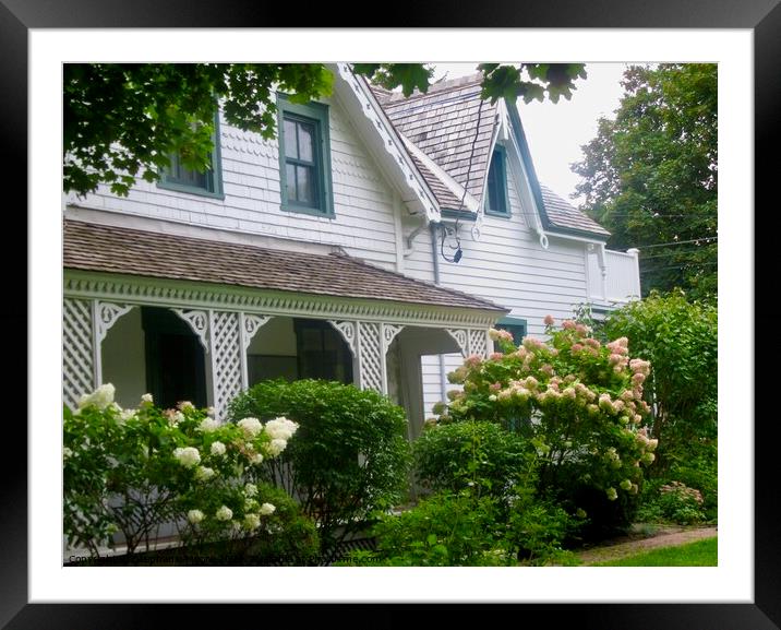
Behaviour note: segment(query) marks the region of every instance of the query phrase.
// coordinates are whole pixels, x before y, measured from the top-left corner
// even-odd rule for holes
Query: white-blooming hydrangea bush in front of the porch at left
[[[298,426],[276,418],[219,424],[189,402],[160,409],[113,402],[105,384],[64,409],[64,531],[93,554],[116,531],[132,554],[172,523],[189,543],[251,536],[274,513],[251,472],[278,455]]]

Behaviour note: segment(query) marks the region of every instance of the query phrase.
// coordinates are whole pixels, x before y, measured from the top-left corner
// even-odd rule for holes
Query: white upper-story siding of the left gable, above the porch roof
[[[101,186],[69,201],[79,206],[343,247],[385,269],[396,265],[393,192],[340,107],[331,104],[331,162],[336,218],[283,212],[276,140],[220,121],[225,199],[158,188],[139,179],[128,198]]]

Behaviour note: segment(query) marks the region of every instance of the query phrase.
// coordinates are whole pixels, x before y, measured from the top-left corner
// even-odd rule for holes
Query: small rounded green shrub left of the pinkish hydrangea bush
[[[434,491],[472,488],[501,498],[534,466],[528,442],[517,433],[472,420],[428,427],[412,452],[419,483]]]

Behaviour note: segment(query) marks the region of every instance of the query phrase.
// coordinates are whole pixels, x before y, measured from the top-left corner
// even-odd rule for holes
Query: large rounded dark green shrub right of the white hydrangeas
[[[337,382],[266,381],[238,395],[239,420],[284,415],[296,439],[264,478],[284,487],[319,525],[325,546],[364,526],[407,488],[409,443],[404,411],[385,396]]]

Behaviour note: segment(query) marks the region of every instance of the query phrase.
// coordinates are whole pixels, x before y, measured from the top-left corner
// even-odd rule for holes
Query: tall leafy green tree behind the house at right
[[[717,293],[717,66],[629,67],[615,120],[572,165],[608,245],[640,250],[644,295]]]

